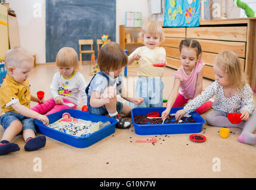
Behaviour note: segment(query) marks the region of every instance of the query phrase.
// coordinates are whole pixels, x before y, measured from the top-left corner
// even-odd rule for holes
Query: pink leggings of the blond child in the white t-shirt
[[[63,99],[64,103],[72,103],[69,102],[69,100]],[[75,105],[75,103],[73,103],[73,105]],[[76,109],[76,105],[69,107],[67,105],[57,105],[54,101],[53,98],[46,100],[44,103],[42,104],[38,104],[34,107],[31,107],[32,110],[34,110],[35,112],[38,112],[40,114],[45,114],[45,115],[49,115],[51,113],[55,113],[58,112],[60,110],[63,109]]]

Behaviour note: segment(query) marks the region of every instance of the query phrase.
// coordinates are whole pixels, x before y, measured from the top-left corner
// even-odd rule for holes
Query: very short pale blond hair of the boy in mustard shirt
[[[22,62],[29,62],[30,64],[34,62],[33,56],[23,47],[16,46],[5,53],[5,68],[21,66]]]

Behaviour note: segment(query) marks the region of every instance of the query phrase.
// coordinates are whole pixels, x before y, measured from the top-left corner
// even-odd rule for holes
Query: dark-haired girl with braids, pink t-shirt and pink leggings
[[[202,92],[204,63],[201,60],[200,43],[197,40],[184,39],[181,40],[179,49],[181,66],[172,74],[174,85],[166,110],[162,112],[162,119],[169,115],[171,107],[181,107]],[[196,109],[196,112],[201,114],[211,109],[212,102],[213,99]]]

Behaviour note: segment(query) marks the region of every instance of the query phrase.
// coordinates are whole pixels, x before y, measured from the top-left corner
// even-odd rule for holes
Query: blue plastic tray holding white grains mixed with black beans
[[[76,109],[64,109],[64,110],[61,110],[60,112],[56,112],[48,115],[49,124],[53,124],[58,119],[62,118],[62,115],[64,112],[69,113],[70,116],[72,116],[73,118],[84,119],[87,121],[89,120],[92,122],[110,121],[111,124],[108,126],[105,126],[104,128],[98,131],[95,131],[94,133],[88,135],[87,137],[75,137],[73,135],[65,134],[64,132],[60,132],[48,126],[45,126],[44,124],[42,124],[41,121],[35,119],[34,122],[35,122],[36,128],[38,129],[38,132],[43,135],[46,135],[47,137],[51,137],[51,138],[54,138],[55,140],[61,141],[62,143],[72,145],[73,147],[76,147],[76,148],[89,147],[90,145],[97,143],[98,141],[102,140],[103,138],[115,132],[115,127],[117,124],[116,119],[109,118],[106,116],[101,116],[101,115],[94,115],[94,114],[83,112],[81,110],[76,110]]]

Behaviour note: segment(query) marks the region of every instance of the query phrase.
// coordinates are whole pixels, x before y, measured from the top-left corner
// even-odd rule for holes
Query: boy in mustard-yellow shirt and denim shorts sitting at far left
[[[35,137],[36,129],[33,119],[48,125],[47,116],[30,110],[30,100],[39,99],[30,95],[30,85],[27,77],[33,68],[33,56],[21,47],[14,47],[5,54],[7,75],[0,88],[1,116],[0,123],[4,134],[0,142],[0,155],[20,150],[17,144],[11,143],[13,138],[23,132],[26,151],[37,150],[45,146],[45,136]]]

